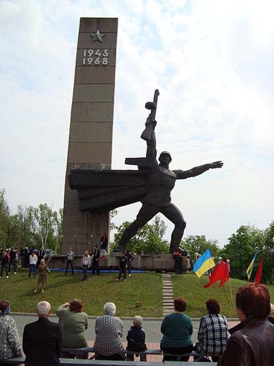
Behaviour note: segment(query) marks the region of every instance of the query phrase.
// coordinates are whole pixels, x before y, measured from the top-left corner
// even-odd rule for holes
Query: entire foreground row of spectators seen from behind
[[[211,356],[219,366],[273,365],[274,318],[271,317],[270,295],[266,286],[253,283],[238,288],[236,312],[240,323],[229,330],[227,319],[220,314],[218,301],[208,299],[208,314],[200,320],[196,344],[192,342],[192,320],[185,314],[186,307],[186,300],[177,297],[174,312],[167,314],[162,321],[160,348],[164,352],[163,361],[177,361],[176,355],[195,350],[204,355],[201,361],[208,361],[208,356]],[[25,325],[23,332],[25,365],[60,365],[60,356],[74,358],[75,349],[86,347],[88,316],[82,310],[82,301],[78,299],[62,304],[55,310],[59,322],[54,323],[48,319],[50,304],[47,301],[38,303],[38,321]],[[0,359],[21,356],[16,324],[9,316],[9,301],[1,301],[0,312]],[[134,317],[132,327],[127,332],[125,349],[122,341],[123,321],[115,314],[115,304],[108,302],[103,307],[103,315],[95,321],[93,348],[96,359],[123,360],[122,351],[138,353],[147,350],[142,317]],[[231,334],[229,339],[228,332]],[[130,352],[128,357],[134,359]],[[82,358],[88,358],[88,353],[83,353]],[[188,361],[188,358],[188,355],[179,356],[179,361]],[[142,354],[141,360],[146,361],[145,354]]]

